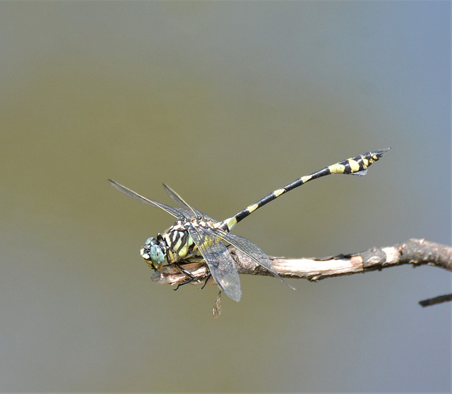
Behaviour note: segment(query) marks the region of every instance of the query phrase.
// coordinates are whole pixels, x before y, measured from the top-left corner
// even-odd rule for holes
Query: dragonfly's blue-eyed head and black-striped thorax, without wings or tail
[[[190,235],[190,230],[196,227],[218,227],[221,223],[205,218],[191,217],[190,220],[177,220],[163,234],[157,238],[148,238],[145,241],[141,256],[151,268],[160,269],[167,263],[179,263],[192,257],[201,256]]]

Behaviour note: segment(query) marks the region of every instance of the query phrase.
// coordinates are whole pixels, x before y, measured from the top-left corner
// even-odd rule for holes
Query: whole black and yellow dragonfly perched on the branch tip
[[[265,268],[269,273],[285,282],[271,263],[270,258],[268,258],[261,248],[249,241],[249,239],[231,232],[237,223],[244,220],[251,213],[254,213],[258,208],[263,207],[263,205],[314,179],[326,177],[330,174],[352,174],[357,177],[362,177],[367,174],[368,167],[378,161],[390,149],[369,151],[362,155],[337,162],[334,165],[323,167],[319,171],[309,175],[304,175],[295,179],[290,184],[272,191],[256,201],[256,203],[248,205],[239,211],[239,213],[222,221],[215,220],[197,210],[192,205],[189,205],[189,203],[184,201],[179,194],[166,184],[163,184],[163,188],[172,201],[177,204],[177,207],[150,200],[111,179],[108,179],[108,181],[112,186],[127,196],[135,198],[141,201],[141,203],[160,208],[176,218],[174,224],[165,232],[157,234],[157,237],[146,239],[143,249],[141,249],[141,256],[153,270],[161,270],[165,263],[172,264],[177,266],[189,278],[191,274],[184,270],[184,263],[188,263],[194,258],[203,258],[208,265],[209,275],[213,277],[213,280],[220,287],[220,292],[218,293],[213,309],[213,314],[216,317],[220,314],[221,292],[224,292],[227,297],[237,302],[242,297],[239,273],[237,272],[236,263],[230,254],[230,246],[238,249],[245,256],[251,258],[252,261]],[[292,286],[287,285],[293,289]]]

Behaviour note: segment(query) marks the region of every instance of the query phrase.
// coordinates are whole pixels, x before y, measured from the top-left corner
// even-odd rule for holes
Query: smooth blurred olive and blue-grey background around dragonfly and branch
[[[447,392],[450,275],[150,282],[166,182],[273,256],[450,243],[450,4],[0,3],[1,391]]]

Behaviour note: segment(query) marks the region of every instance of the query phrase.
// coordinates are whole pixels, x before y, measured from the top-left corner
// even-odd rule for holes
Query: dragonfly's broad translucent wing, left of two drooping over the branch
[[[240,278],[229,250],[210,229],[200,227],[189,228],[191,238],[206,260],[210,273],[223,292],[234,301],[242,297]]]

